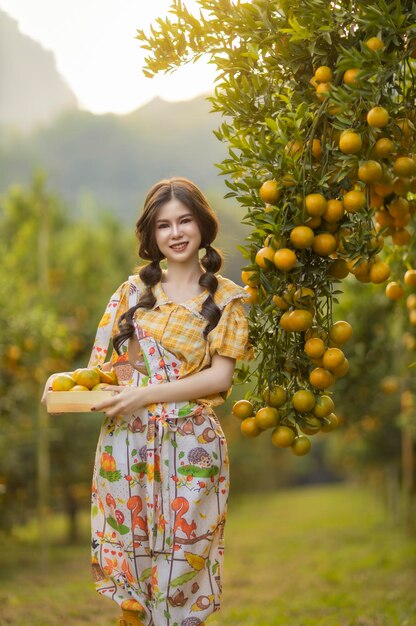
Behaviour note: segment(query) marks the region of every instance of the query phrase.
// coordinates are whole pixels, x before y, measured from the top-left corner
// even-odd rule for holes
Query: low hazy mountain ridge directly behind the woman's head
[[[215,163],[226,155],[213,129],[218,114],[199,97],[169,103],[155,98],[128,115],[75,110],[27,136],[0,143],[0,191],[28,183],[36,168],[76,212],[92,198],[121,219],[137,214],[149,187],[161,178],[186,176],[223,196]]]

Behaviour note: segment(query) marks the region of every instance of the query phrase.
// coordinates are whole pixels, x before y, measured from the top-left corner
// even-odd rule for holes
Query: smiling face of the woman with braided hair
[[[160,209],[155,223],[156,244],[167,261],[186,263],[198,258],[201,233],[190,209],[172,198]]]

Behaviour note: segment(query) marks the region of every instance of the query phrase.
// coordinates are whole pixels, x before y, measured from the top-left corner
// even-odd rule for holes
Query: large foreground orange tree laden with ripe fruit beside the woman
[[[234,413],[248,437],[305,454],[305,435],[337,425],[331,390],[348,371],[351,326],[333,324],[349,274],[400,273],[416,190],[410,1],[174,0],[171,17],[138,32],[153,76],[208,55],[219,168],[251,228],[241,251],[258,359],[250,401]],[[394,277],[394,276],[393,276]]]

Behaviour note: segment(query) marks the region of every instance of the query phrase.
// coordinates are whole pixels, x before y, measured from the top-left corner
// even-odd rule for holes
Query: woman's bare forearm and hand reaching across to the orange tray
[[[92,410],[104,411],[109,417],[131,415],[139,408],[159,402],[181,402],[204,398],[231,387],[235,359],[215,354],[211,366],[196,374],[160,385],[148,387],[114,387],[122,392],[97,404]]]

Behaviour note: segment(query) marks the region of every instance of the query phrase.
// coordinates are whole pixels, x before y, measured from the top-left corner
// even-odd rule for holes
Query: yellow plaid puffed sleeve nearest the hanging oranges
[[[248,361],[254,358],[249,344],[248,320],[241,298],[231,300],[223,309],[220,321],[208,335],[211,358],[214,354]]]

